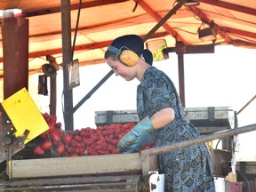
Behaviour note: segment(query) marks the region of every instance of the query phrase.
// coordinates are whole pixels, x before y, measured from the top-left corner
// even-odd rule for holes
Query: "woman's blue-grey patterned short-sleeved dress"
[[[175,118],[170,124],[151,132],[155,146],[172,145],[199,136],[199,132],[186,121],[180,97],[172,80],[155,67],[146,70],[137,87],[137,112],[140,119],[152,116],[163,108],[173,108]],[[165,174],[165,191],[214,192],[211,157],[205,144],[162,153],[159,171]]]

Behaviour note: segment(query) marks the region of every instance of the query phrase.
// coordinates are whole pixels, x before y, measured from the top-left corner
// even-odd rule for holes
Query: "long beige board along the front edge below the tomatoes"
[[[44,178],[72,175],[158,171],[156,156],[142,158],[140,153],[102,156],[12,160],[10,178]]]

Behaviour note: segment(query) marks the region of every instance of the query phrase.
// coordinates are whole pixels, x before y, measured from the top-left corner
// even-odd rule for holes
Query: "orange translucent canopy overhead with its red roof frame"
[[[141,37],[156,26],[179,1],[175,0],[70,0],[72,41],[76,31],[74,60],[80,65],[104,62],[108,44],[117,36]],[[177,42],[186,45],[233,44],[256,48],[256,4],[254,0],[198,0],[199,5],[185,5],[157,29],[152,38],[165,38],[168,47]],[[62,62],[60,0],[2,0],[0,10],[18,8],[15,17],[29,20],[29,70],[40,72],[46,55]],[[78,10],[81,12],[78,17]],[[1,19],[2,20],[2,19]],[[3,24],[3,23],[2,23]],[[217,33],[216,41],[202,41],[198,29]],[[1,42],[2,42],[2,36]],[[0,75],[3,74],[3,47],[0,44]]]

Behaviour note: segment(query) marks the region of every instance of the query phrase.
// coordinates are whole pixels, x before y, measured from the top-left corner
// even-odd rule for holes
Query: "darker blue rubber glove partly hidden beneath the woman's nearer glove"
[[[137,140],[130,146],[130,149],[125,151],[124,153],[136,153],[139,152],[141,149],[148,146],[150,143],[154,142],[154,136],[153,134],[146,133],[143,135],[140,135]]]

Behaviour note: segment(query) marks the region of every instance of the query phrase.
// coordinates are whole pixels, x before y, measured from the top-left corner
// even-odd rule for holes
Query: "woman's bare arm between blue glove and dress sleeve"
[[[162,110],[159,110],[150,117],[150,120],[153,126],[156,129],[159,129],[174,120],[174,110],[173,108],[164,108]]]

